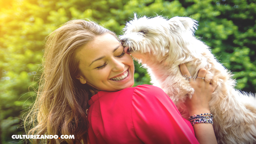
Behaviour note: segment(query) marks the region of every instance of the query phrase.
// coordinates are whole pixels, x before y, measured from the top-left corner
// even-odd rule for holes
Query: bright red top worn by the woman
[[[153,85],[101,91],[89,104],[90,144],[199,144],[190,122]]]

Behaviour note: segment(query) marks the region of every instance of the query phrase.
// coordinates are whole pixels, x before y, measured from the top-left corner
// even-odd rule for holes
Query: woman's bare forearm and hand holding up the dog
[[[180,65],[182,75],[191,76],[186,65]],[[206,69],[202,68],[198,72],[198,77],[205,77]],[[204,81],[202,78],[192,79],[190,85],[194,88],[192,99],[187,98],[185,104],[189,110],[189,114],[199,115],[203,113],[210,113],[209,102],[211,100],[211,94],[217,87],[210,82]],[[213,131],[212,124],[199,123],[194,124],[195,136],[200,144],[217,144],[217,140]]]

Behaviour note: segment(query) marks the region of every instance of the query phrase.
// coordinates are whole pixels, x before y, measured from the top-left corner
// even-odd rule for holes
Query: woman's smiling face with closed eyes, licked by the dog
[[[132,57],[111,34],[97,36],[76,53],[82,84],[102,91],[119,91],[134,84]]]

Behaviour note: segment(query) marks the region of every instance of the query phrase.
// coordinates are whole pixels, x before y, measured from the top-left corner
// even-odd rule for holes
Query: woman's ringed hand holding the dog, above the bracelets
[[[182,75],[191,76],[185,64],[180,65],[180,70]],[[189,83],[195,90],[192,95],[192,99],[187,98],[185,102],[190,115],[210,113],[209,102],[211,100],[211,94],[217,86],[214,86],[210,84],[210,82],[202,79],[205,75],[206,69],[201,68],[198,72],[197,78],[191,78]]]

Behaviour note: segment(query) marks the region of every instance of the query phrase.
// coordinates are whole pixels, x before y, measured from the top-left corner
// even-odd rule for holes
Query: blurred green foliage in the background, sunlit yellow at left
[[[88,18],[116,34],[138,16],[185,16],[196,36],[233,71],[237,88],[256,92],[255,0],[0,0],[0,143],[24,133],[22,115],[36,97],[45,37],[72,19]],[[135,64],[135,85],[150,84]],[[32,87],[29,87],[29,86]],[[35,88],[35,90],[33,89]]]

